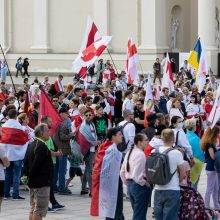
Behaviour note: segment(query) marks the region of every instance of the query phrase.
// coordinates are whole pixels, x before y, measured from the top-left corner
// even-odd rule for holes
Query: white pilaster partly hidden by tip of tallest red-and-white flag
[[[109,35],[109,0],[93,0],[93,19],[101,35]]]

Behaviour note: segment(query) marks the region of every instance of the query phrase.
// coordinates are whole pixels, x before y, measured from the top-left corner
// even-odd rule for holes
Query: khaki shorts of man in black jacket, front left
[[[50,198],[50,187],[44,186],[41,188],[30,189],[30,214],[45,217],[48,210]]]

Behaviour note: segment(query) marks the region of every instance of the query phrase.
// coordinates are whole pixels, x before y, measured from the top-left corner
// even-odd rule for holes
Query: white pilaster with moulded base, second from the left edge
[[[48,45],[48,0],[34,0],[34,53],[47,53]]]

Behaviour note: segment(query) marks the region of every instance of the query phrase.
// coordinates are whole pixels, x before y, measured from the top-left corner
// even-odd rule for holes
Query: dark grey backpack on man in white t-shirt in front
[[[147,157],[146,177],[151,184],[166,185],[172,179],[174,173],[170,172],[168,153],[174,150],[173,147],[165,150],[163,153],[156,149]]]

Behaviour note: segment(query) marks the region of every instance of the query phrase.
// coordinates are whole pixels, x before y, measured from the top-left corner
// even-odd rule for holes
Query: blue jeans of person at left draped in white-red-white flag
[[[23,160],[10,161],[10,166],[5,170],[5,197],[10,196],[11,181],[13,179],[13,198],[19,196],[19,185],[21,178]]]

